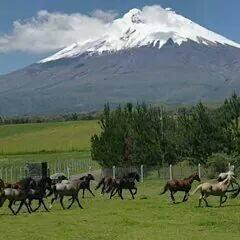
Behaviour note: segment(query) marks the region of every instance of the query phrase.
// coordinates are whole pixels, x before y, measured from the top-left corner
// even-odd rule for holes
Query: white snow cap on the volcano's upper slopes
[[[74,43],[40,63],[83,53],[101,54],[148,45],[161,48],[169,39],[178,45],[191,40],[204,45],[222,44],[240,48],[240,44],[201,27],[171,9],[161,7],[132,9],[122,18],[109,23],[107,29],[108,32],[104,32],[100,38]]]

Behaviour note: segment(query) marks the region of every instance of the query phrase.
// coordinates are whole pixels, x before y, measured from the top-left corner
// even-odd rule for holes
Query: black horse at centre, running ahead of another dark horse
[[[116,193],[118,193],[120,198],[123,200],[123,196],[122,196],[122,190],[123,189],[129,190],[129,192],[132,195],[132,198],[135,199],[134,195],[137,194],[137,187],[136,187],[136,184],[135,184],[135,180],[137,182],[140,181],[140,176],[136,172],[131,172],[131,173],[128,173],[126,176],[122,177],[122,178],[115,179],[113,181],[112,185],[110,185],[109,188],[107,189],[107,192],[111,192],[110,199]],[[133,190],[134,190],[134,192],[133,192]]]

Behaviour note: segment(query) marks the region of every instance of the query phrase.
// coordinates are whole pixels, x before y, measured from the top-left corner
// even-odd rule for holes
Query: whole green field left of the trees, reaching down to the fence
[[[89,161],[90,139],[99,131],[96,120],[0,126],[0,169],[26,162]]]

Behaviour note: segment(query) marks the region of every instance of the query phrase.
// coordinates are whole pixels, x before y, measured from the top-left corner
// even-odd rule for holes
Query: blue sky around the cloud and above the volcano
[[[73,13],[93,15],[93,12],[97,9],[107,13],[111,10],[110,15],[119,14],[121,16],[132,8],[142,8],[146,5],[170,7],[177,13],[210,30],[240,42],[239,0],[1,0],[0,74],[22,68],[56,52],[56,49],[52,49],[52,46],[46,49],[40,47],[37,52],[32,51],[29,46],[24,46],[23,43],[16,47],[19,44],[18,39],[21,38],[19,29],[20,32],[22,27],[25,29],[29,21],[32,25],[34,25],[36,19],[42,21],[43,17],[40,20],[37,18],[41,10],[47,11],[47,13],[42,12],[40,14],[44,17],[46,15],[52,17],[51,13],[54,12],[65,14],[65,17]],[[55,15],[53,16],[55,17]],[[73,17],[71,15],[69,24],[72,23]],[[34,20],[31,20],[32,18]],[[14,40],[13,23],[15,21],[18,21],[17,27],[15,26],[18,35]],[[31,38],[31,34],[29,36]],[[6,39],[10,39],[11,44],[8,45]]]

